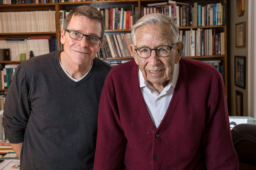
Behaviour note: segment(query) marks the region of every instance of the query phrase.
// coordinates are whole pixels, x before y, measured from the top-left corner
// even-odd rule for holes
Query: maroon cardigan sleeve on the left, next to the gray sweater
[[[100,97],[94,170],[120,170],[127,143],[117,101],[107,88],[108,80],[107,78]]]

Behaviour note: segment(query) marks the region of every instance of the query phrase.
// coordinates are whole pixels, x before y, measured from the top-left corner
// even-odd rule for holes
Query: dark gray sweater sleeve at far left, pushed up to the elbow
[[[28,91],[26,77],[22,64],[20,64],[15,69],[15,74],[4,102],[2,125],[10,143],[24,141],[24,133],[31,108]]]

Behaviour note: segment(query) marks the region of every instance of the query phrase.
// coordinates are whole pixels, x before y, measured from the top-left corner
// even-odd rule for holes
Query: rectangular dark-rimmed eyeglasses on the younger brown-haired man
[[[69,37],[75,40],[81,40],[85,36],[88,43],[90,44],[99,44],[101,40],[100,37],[96,37],[93,35],[84,35],[80,32],[72,31],[72,30],[66,30],[66,31],[69,33]]]

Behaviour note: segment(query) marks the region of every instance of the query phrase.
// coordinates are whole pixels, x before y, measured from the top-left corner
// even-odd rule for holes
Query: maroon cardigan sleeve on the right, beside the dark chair
[[[239,162],[231,138],[224,82],[221,75],[208,102],[202,149],[208,170],[238,170]]]

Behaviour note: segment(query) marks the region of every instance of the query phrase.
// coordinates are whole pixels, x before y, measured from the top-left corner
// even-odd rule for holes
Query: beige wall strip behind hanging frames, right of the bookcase
[[[248,88],[247,88],[247,68],[246,68],[246,89],[240,88],[238,86],[234,85],[234,56],[246,56],[246,66],[247,64],[247,37],[248,37],[248,3],[247,0],[245,0],[245,11],[244,15],[239,17],[236,12],[236,0],[230,0],[229,4],[227,4],[228,9],[228,19],[229,23],[227,23],[227,32],[228,32],[228,106],[229,106],[229,115],[230,116],[237,116],[236,115],[236,90],[239,90],[243,93],[243,116],[248,115]],[[236,37],[236,31],[235,26],[236,23],[240,23],[245,21],[245,32],[246,32],[246,38],[245,38],[245,47],[235,47],[235,37]]]

